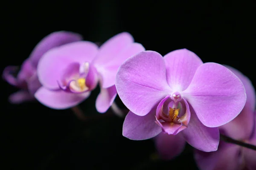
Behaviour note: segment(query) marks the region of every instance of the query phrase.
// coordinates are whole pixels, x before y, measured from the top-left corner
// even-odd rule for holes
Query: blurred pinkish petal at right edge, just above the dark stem
[[[219,127],[222,134],[236,140],[249,139],[253,132],[254,112],[250,104],[246,103],[241,113],[232,121]]]

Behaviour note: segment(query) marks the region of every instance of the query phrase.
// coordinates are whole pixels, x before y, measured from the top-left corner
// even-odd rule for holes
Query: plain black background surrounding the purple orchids
[[[53,31],[73,31],[105,42],[128,31],[146,50],[179,48],[203,62],[230,65],[255,79],[255,6],[241,1],[5,1],[1,11],[1,71],[20,65]],[[122,136],[123,119],[96,112],[97,88],[81,108],[99,118],[81,122],[70,110],[37,102],[11,105],[16,88],[1,80],[1,155],[4,169],[197,169],[192,148],[172,161],[156,159],[152,140]],[[117,100],[117,103],[120,102]],[[2,168],[3,169],[3,168]]]

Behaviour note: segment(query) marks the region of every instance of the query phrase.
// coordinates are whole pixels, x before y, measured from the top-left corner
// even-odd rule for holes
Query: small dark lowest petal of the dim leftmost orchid
[[[12,104],[20,104],[22,102],[32,100],[35,100],[35,97],[25,90],[17,91],[16,93],[13,93],[9,96],[9,102],[11,102]]]

